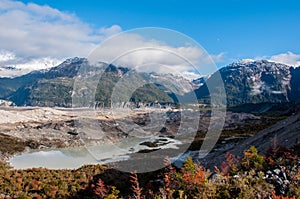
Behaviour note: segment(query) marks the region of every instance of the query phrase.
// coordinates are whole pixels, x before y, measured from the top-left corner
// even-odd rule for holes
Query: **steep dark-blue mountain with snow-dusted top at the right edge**
[[[227,104],[230,106],[300,100],[299,68],[261,60],[233,63],[221,68],[219,73],[226,90]],[[213,84],[215,79],[216,74],[213,74],[207,84]],[[216,94],[217,90],[218,88],[213,88],[209,92],[205,84],[195,92],[200,101],[209,101],[210,93]]]

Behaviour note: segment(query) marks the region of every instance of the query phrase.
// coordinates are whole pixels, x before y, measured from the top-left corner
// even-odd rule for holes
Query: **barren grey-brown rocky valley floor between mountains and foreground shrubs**
[[[183,132],[183,135],[177,135],[178,129],[189,129],[181,124],[181,112],[171,109],[136,109],[136,110],[94,110],[94,109],[67,109],[67,108],[45,108],[45,107],[1,107],[0,108],[0,158],[7,160],[15,154],[32,149],[55,149],[70,147],[88,147],[107,143],[118,143],[124,138],[154,136],[160,139],[150,139],[139,153],[145,153],[156,150],[167,150],[165,153],[174,154],[176,157],[179,152],[174,149],[164,148],[163,145],[174,139],[173,142],[180,141],[180,153],[186,150],[197,151],[200,149],[207,129],[210,124],[210,110],[186,111],[185,117],[193,120],[195,114],[200,114],[198,129],[190,129]],[[246,144],[240,147],[241,151],[250,144],[259,144],[268,146],[270,140],[276,135],[278,129],[284,126],[290,126],[297,123],[299,117],[296,113],[283,123],[274,127],[275,130],[264,133],[260,141],[245,141]],[[202,159],[201,162],[207,166],[213,163],[207,161],[210,159],[222,161],[226,151],[236,148],[243,140],[249,140],[259,131],[272,126],[276,122],[285,119],[282,115],[254,115],[250,113],[236,113],[228,111],[220,139],[214,150],[209,154],[209,158]],[[289,139],[286,139],[286,146],[295,144],[299,137],[295,129],[294,133],[289,132]],[[191,131],[197,132],[191,134]],[[268,134],[268,135],[267,135]],[[281,137],[286,136],[283,134]],[[281,139],[280,137],[280,139]],[[283,139],[283,138],[282,138]],[[300,139],[300,138],[299,138]],[[165,143],[158,143],[161,141]],[[176,141],[177,140],[177,141]],[[171,141],[172,142],[172,141]],[[164,149],[163,149],[164,148]],[[163,154],[165,154],[163,153]],[[171,156],[172,157],[172,156]],[[155,156],[154,156],[155,158]]]

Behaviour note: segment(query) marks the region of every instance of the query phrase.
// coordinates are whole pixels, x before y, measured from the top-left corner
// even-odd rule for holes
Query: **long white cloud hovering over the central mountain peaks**
[[[219,61],[223,55],[209,56],[195,45],[173,47],[159,40],[146,39],[140,34],[123,33],[102,43],[92,52],[89,60],[92,63],[104,61],[144,72],[183,74],[197,68],[203,69],[200,73],[207,74],[207,71],[215,71],[212,60],[215,58]]]

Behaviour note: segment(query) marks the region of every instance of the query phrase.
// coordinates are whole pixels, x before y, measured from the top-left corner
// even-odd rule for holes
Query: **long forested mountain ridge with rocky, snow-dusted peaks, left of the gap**
[[[63,106],[70,107],[74,79],[79,70],[85,68],[92,71],[94,78],[100,77],[95,94],[95,100],[109,105],[110,96],[115,84],[129,71],[127,68],[99,63],[99,66],[90,66],[85,58],[68,59],[62,64],[49,70],[34,71],[15,78],[0,78],[0,99],[8,99],[18,106]],[[92,68],[92,69],[91,69]],[[134,71],[132,72],[134,73]],[[131,74],[132,74],[131,73]],[[101,74],[101,75],[100,75]],[[173,102],[166,89],[154,82],[169,83],[174,85],[172,75],[168,77],[156,74],[135,73],[146,81],[144,86],[133,93],[133,101],[143,102]],[[181,80],[187,84],[187,80]],[[176,85],[176,84],[175,84]],[[88,88],[85,88],[88,91]],[[184,88],[174,89],[177,92],[187,92]],[[191,90],[188,90],[191,91]],[[183,94],[183,93],[182,93]]]

